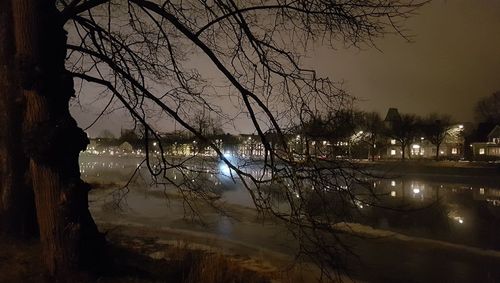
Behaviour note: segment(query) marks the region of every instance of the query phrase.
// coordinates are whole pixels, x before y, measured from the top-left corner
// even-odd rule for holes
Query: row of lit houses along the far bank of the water
[[[397,109],[391,108],[385,118],[385,123],[398,119]],[[440,144],[439,149],[425,137],[417,137],[405,147],[405,155],[412,159],[433,159],[439,150],[439,157],[448,160],[464,159],[467,152],[471,153],[474,160],[495,160],[500,159],[500,126],[496,125],[487,135],[487,140],[483,142],[468,142],[468,124],[456,124],[447,128],[447,134]],[[297,159],[314,156],[316,158],[355,158],[367,159],[400,159],[403,155],[401,144],[396,139],[383,138],[382,142],[373,144],[366,143],[366,138],[370,133],[357,131],[349,138],[342,140],[332,140],[325,137],[308,137],[300,134],[285,135],[285,142],[290,152]],[[122,136],[133,136],[124,135]],[[278,140],[275,135],[269,133],[266,137],[271,143],[271,147],[279,151],[283,148],[282,140]],[[163,152],[174,156],[216,156],[216,151],[193,137],[183,133],[167,133],[161,135],[160,141],[152,141],[148,144],[151,153],[159,154]],[[161,143],[161,144],[160,144]],[[265,155],[265,148],[258,135],[242,134],[230,135],[220,134],[212,137],[212,143],[223,154],[239,156],[242,158],[262,158]],[[109,155],[144,155],[145,148],[143,142],[137,137],[131,140],[126,139],[93,139],[87,148],[90,154]]]

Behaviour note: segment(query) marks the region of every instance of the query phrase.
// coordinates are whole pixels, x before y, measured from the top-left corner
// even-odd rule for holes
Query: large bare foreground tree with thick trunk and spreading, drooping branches
[[[212,200],[196,186],[203,184],[179,184],[169,178],[168,170],[190,173],[184,162],[166,157],[151,113],[175,120],[210,146],[246,187],[256,208],[282,221],[296,236],[298,254],[317,263],[326,276],[335,275],[342,249],[334,224],[346,220],[345,209],[369,202],[358,194],[369,189],[349,170],[352,164],[317,157],[304,162],[287,143],[285,129],[304,108],[336,113],[349,100],[338,84],[301,67],[301,58],[314,42],[371,46],[388,32],[404,35],[401,21],[424,1],[12,3],[14,69],[20,70],[19,85],[27,101],[23,139],[29,145],[49,276],[76,280],[74,274],[95,267],[102,248],[87,207],[89,188],[78,171],[78,153],[88,140],[68,111],[74,78],[107,89],[144,127],[146,149],[151,140],[158,141],[159,155],[152,157],[146,150],[145,160],[158,182],[178,187],[183,196]],[[226,117],[217,105],[213,82],[190,67],[193,54],[203,54],[219,72],[229,96],[252,122],[265,149],[262,174],[255,176],[226,158],[190,122],[200,109]],[[269,186],[286,196],[286,209],[270,201],[264,190]]]

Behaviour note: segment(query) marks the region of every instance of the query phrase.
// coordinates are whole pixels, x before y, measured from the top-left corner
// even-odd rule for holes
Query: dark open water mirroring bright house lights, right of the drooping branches
[[[450,180],[452,181],[452,180]],[[378,180],[377,205],[357,222],[379,229],[500,249],[500,190],[422,180]]]

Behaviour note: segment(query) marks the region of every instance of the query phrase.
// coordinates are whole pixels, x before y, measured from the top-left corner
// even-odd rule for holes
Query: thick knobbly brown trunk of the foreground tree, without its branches
[[[60,282],[86,277],[102,259],[103,237],[88,210],[78,155],[88,144],[69,113],[66,32],[54,0],[13,1],[16,65],[26,100],[24,144],[35,193],[43,261]]]

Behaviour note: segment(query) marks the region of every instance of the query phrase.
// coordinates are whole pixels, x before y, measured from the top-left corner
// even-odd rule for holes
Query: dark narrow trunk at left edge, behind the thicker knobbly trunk
[[[28,159],[22,140],[22,93],[16,86],[10,0],[0,0],[0,233],[33,237],[38,233]]]

